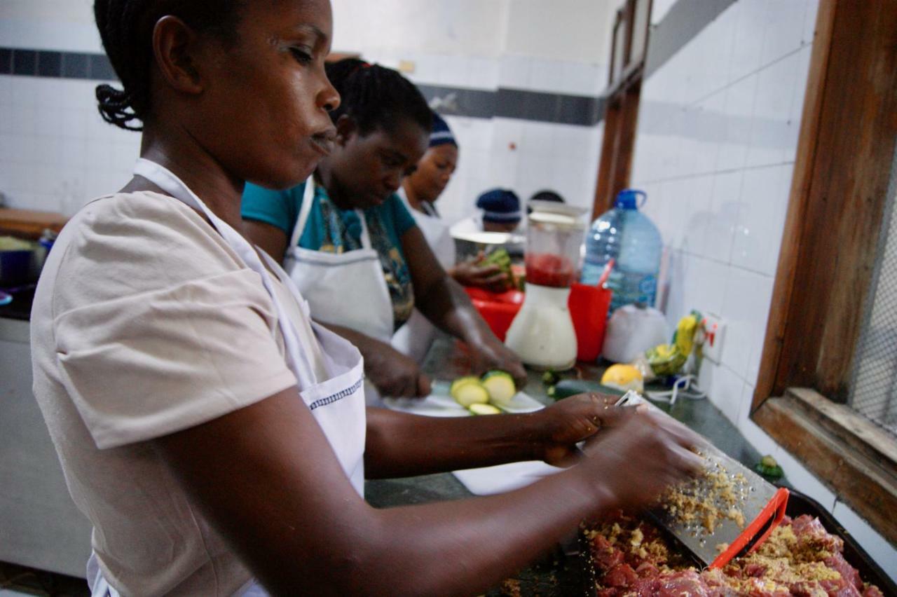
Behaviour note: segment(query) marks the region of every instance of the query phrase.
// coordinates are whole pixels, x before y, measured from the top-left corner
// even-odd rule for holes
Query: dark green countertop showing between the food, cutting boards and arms
[[[439,381],[450,381],[466,375],[469,365],[463,345],[448,337],[438,338],[424,361],[423,369],[434,380]],[[598,381],[603,371],[603,367],[579,363],[573,375]],[[545,404],[553,402],[545,394],[540,372],[529,371],[529,381],[524,391]],[[753,464],[760,460],[761,454],[747,443],[738,429],[710,401],[684,399],[677,401],[672,408],[661,403],[657,403],[657,406],[710,439],[720,450],[741,463],[753,468]],[[376,507],[422,504],[472,496],[451,473],[409,479],[370,480],[365,486],[365,495],[370,504]],[[564,556],[561,549],[555,549],[533,566],[514,575],[511,584],[522,595],[550,597],[581,594],[583,581],[579,560],[575,556]],[[515,593],[508,586],[502,586],[495,587],[487,594]]]

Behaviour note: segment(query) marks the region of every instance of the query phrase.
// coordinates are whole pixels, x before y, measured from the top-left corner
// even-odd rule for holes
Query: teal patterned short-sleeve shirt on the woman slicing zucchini
[[[247,184],[243,191],[243,218],[270,224],[282,229],[287,238],[292,238],[304,194],[305,183],[285,191]],[[336,207],[327,190],[320,185],[315,186],[313,202],[309,220],[300,233],[300,247],[337,254],[361,248],[358,212]],[[390,195],[384,203],[364,210],[363,214],[370,243],[379,255],[392,301],[393,321],[398,329],[414,308],[414,289],[402,249],[402,236],[417,224],[396,194]]]

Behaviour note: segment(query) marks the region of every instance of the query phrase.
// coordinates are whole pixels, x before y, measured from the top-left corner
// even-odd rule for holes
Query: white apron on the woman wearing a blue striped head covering
[[[415,210],[411,203],[408,203],[405,189],[399,188],[398,195],[414,218],[414,223],[421,229],[423,238],[426,238],[427,244],[430,245],[433,255],[436,255],[440,265],[448,268],[455,264],[455,241],[448,234],[448,226],[445,222],[440,218],[434,218]],[[392,338],[392,346],[418,363],[423,363],[437,331],[436,326],[415,308],[405,325],[396,331]]]

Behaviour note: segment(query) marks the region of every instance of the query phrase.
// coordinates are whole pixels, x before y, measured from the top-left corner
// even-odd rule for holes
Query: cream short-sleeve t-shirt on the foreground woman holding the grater
[[[277,284],[323,381],[309,319]],[[296,385],[260,276],[178,200],[102,197],[48,256],[31,351],[34,394],[109,583],[137,595],[246,584],[248,569],[146,440]]]

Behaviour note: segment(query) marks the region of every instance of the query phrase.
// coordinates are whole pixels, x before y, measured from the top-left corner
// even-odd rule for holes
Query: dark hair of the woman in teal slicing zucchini
[[[327,63],[326,68],[327,78],[340,94],[339,108],[330,112],[334,123],[348,115],[363,136],[377,128],[395,130],[399,121],[409,118],[430,134],[433,116],[427,100],[398,71],[358,58]]]

